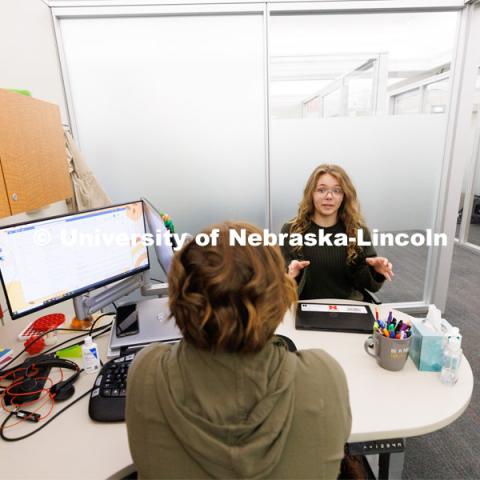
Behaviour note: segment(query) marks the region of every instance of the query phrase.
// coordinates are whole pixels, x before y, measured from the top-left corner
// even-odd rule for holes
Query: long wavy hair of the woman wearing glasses
[[[315,213],[313,192],[315,192],[317,188],[318,179],[326,173],[334,177],[343,190],[343,201],[338,210],[338,218],[345,225],[348,237],[356,238],[358,229],[365,228],[365,221],[360,212],[360,204],[357,199],[357,191],[347,172],[342,167],[328,163],[319,165],[308,178],[297,215],[290,220],[290,233],[304,234],[307,231],[313,214]],[[300,250],[301,246],[296,247],[296,249]],[[360,252],[361,247],[356,243],[349,242],[347,247],[347,263],[353,263]]]

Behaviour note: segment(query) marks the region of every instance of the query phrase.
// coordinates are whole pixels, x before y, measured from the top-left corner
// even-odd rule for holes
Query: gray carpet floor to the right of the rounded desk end
[[[445,318],[463,335],[463,350],[475,378],[472,400],[453,424],[407,440],[404,479],[480,479],[480,256],[458,246]]]

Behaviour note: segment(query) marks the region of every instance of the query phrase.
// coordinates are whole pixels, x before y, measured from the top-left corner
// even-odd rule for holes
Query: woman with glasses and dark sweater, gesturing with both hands
[[[282,227],[284,234],[313,234],[323,229],[333,243],[336,234],[364,240],[370,233],[360,213],[357,192],[349,176],[338,165],[323,164],[310,175],[297,215]],[[293,242],[292,242],[293,243]],[[300,299],[342,298],[363,300],[363,289],[378,291],[385,279],[392,280],[392,264],[378,257],[373,246],[349,242],[340,245],[282,247],[288,275],[298,285]]]

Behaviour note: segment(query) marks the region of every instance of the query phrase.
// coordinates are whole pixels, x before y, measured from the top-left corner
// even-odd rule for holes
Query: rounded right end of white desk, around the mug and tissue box
[[[378,308],[385,312],[382,317],[390,310],[382,305]],[[399,311],[395,317],[410,318]],[[368,335],[295,330],[291,316],[285,318],[278,333],[290,337],[298,349],[327,351],[343,367],[352,407],[351,442],[434,432],[456,420],[470,402],[473,373],[465,357],[458,383],[452,387],[440,382],[438,372],[419,372],[410,358],[399,372],[379,367],[364,351]]]

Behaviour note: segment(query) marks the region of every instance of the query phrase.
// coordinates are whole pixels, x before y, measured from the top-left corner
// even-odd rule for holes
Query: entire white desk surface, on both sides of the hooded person
[[[63,311],[71,312],[70,305],[67,302],[60,306]],[[60,311],[58,306],[50,310]],[[408,318],[400,312],[396,316]],[[18,345],[19,351],[21,344],[14,339],[31,320],[9,321],[0,327],[1,343]],[[438,373],[418,372],[410,359],[400,372],[378,367],[364,352],[367,335],[297,331],[291,316],[285,318],[278,333],[292,338],[300,349],[323,348],[342,365],[350,390],[353,425],[349,440],[352,442],[433,432],[458,418],[470,401],[473,374],[465,358],[457,385],[449,387],[440,383]],[[108,335],[97,340],[103,354],[107,342]],[[75,383],[76,396],[87,391],[94,379],[95,375],[82,374]],[[125,424],[98,424],[90,420],[88,398],[32,437],[13,443],[0,440],[2,477],[105,479],[119,471],[131,471]],[[57,404],[54,411],[63,405]],[[379,414],[386,410],[394,414]],[[0,421],[4,418],[5,413],[0,413]],[[36,426],[38,424],[25,423],[7,430],[7,434],[20,436]]]

